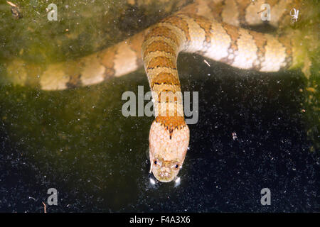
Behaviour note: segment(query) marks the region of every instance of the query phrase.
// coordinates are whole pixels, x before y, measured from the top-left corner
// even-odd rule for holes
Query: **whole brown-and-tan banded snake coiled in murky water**
[[[265,3],[272,12],[268,23],[274,27],[288,21],[290,9],[300,6],[295,0],[195,0],[110,48],[48,65],[37,75],[36,84],[43,90],[70,89],[144,67],[156,111],[149,132],[150,172],[160,182],[171,182],[183,166],[190,140],[176,64],[179,52],[259,72],[277,72],[294,65],[296,50],[291,38],[242,28],[263,22],[259,12]],[[7,67],[7,74],[22,85],[31,83],[24,64],[17,61]]]

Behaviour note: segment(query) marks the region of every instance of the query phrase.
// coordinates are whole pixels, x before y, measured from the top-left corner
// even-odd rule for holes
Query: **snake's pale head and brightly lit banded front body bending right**
[[[286,41],[210,21],[194,14],[177,14],[150,29],[142,58],[156,119],[149,134],[151,171],[170,182],[181,169],[189,143],[176,60],[179,52],[196,52],[242,69],[278,71],[291,65],[292,48]]]

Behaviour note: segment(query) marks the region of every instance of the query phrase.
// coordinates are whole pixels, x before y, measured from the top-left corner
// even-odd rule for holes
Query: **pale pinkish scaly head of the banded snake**
[[[150,172],[160,182],[171,182],[183,165],[189,144],[189,128],[184,122],[168,127],[156,118],[149,134]]]

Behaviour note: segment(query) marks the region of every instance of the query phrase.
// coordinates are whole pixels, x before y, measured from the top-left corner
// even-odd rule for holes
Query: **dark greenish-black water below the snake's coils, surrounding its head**
[[[1,84],[0,211],[43,212],[53,187],[58,205],[48,212],[319,212],[319,150],[308,136],[319,113],[304,107],[301,70],[203,60],[178,59],[181,88],[199,92],[200,110],[178,187],[149,181],[153,118],[121,114],[123,92],[149,91],[142,70],[61,92]]]

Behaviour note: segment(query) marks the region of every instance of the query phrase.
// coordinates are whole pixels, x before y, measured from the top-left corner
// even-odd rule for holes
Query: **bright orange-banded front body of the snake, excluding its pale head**
[[[142,60],[156,116],[184,116],[176,67],[181,51],[261,72],[276,72],[292,65],[292,45],[287,38],[247,31],[193,14],[176,14],[152,27],[142,44]]]

